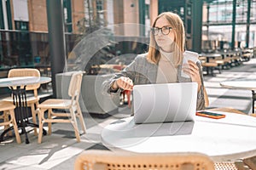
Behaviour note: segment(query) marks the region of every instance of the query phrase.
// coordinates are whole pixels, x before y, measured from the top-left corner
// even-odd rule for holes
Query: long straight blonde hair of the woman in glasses
[[[174,32],[174,42],[175,42],[174,65],[176,66],[181,65],[183,61],[183,52],[184,52],[184,46],[185,46],[185,31],[183,26],[183,20],[181,20],[181,18],[177,14],[174,14],[172,12],[165,12],[157,16],[157,18],[154,20],[152,27],[155,26],[156,21],[159,20],[161,17],[165,17],[165,19],[172,26],[172,31]],[[157,64],[160,60],[159,47],[155,42],[154,34],[152,32],[150,34],[150,42],[149,42],[147,59],[149,62],[154,64]]]

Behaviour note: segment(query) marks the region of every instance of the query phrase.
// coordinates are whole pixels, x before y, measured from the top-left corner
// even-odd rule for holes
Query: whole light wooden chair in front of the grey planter
[[[69,83],[68,88],[68,95],[71,99],[47,99],[40,105],[38,105],[38,119],[39,119],[39,134],[38,134],[38,144],[42,142],[42,135],[43,135],[43,125],[44,122],[48,122],[48,133],[51,134],[51,123],[52,122],[65,122],[65,123],[72,123],[76,139],[79,142],[79,127],[76,120],[76,116],[79,117],[81,126],[85,133],[85,125],[84,125],[84,118],[82,115],[82,111],[79,106],[79,94],[80,88],[82,83],[83,72],[78,71],[73,73],[71,77],[71,81]],[[67,110],[69,112],[54,112],[53,110],[56,109],[57,111]],[[48,117],[44,117],[44,112],[48,111]],[[56,117],[61,117],[57,118]],[[66,119],[65,119],[66,117]]]

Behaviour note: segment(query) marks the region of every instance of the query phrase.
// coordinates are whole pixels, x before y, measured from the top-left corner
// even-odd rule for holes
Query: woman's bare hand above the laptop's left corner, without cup
[[[124,90],[132,90],[133,82],[129,77],[119,77],[113,82],[113,89],[122,88]]]

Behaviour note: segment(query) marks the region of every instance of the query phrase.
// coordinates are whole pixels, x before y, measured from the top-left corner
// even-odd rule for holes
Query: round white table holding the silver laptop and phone
[[[195,122],[135,124],[133,116],[102,130],[111,150],[137,153],[201,152],[214,161],[256,155],[256,118],[226,113],[223,119],[196,116]]]

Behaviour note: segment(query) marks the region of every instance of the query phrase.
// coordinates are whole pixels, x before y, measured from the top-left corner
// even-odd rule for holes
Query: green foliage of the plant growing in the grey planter
[[[98,74],[99,65],[113,59],[113,32],[106,27],[106,21],[96,17],[79,20],[79,36],[73,52],[78,59],[75,70],[84,70],[86,74]]]

